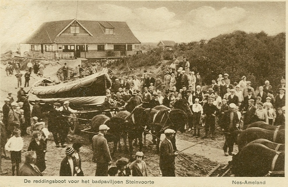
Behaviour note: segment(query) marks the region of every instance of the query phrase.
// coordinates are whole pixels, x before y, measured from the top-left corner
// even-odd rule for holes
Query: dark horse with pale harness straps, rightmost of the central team
[[[155,110],[155,109],[146,109],[147,112],[146,119],[146,131],[151,130],[151,133],[154,137],[157,138],[156,150],[159,153],[159,144],[160,136],[168,128],[179,130],[181,133],[185,132],[185,125],[187,123],[187,115],[185,112],[179,109],[173,110]],[[146,134],[144,134],[145,136]],[[177,150],[175,135],[171,140],[173,149]],[[144,137],[145,138],[145,137]]]

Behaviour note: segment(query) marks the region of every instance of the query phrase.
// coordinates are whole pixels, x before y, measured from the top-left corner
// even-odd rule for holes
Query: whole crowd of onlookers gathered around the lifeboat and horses
[[[43,75],[44,66],[42,65],[41,69],[41,65],[41,63],[35,63],[32,67],[32,64],[27,64],[24,87],[26,83],[29,86],[28,78],[32,68],[36,75]],[[10,76],[11,64],[7,67],[7,76]],[[17,101],[11,93],[8,93],[2,107],[1,158],[11,159],[13,176],[41,176],[46,169],[45,153],[50,132],[56,148],[60,147],[60,144],[61,147],[66,147],[66,138],[70,130],[68,116],[78,111],[71,109],[69,102],[65,101],[63,106],[60,103],[54,103],[53,109],[45,114],[42,112],[39,99],[35,100],[33,109],[30,111],[19,67],[16,70],[18,88],[20,87],[17,92]],[[97,72],[96,67],[94,69],[92,73]],[[115,77],[111,68],[104,67],[102,72],[108,73],[112,82],[111,87],[106,90],[104,105],[108,108],[125,107],[131,112],[135,107],[140,106],[154,108],[157,105],[164,105],[172,109],[177,100],[183,100],[189,105],[191,111],[187,113],[188,132],[194,130],[193,136],[200,137],[200,128],[204,128],[205,134],[202,138],[207,138],[211,134],[211,138],[214,139],[215,128],[219,126],[225,135],[223,150],[226,156],[234,155],[232,152],[234,142],[230,133],[239,129],[241,120],[244,126],[254,121],[264,121],[270,125],[285,125],[285,79],[282,79],[275,88],[270,85],[269,80],[266,80],[265,85],[259,86],[255,91],[251,87],[251,81],[246,80],[246,76],[243,76],[240,82],[231,84],[228,73],[224,73],[219,74],[216,80],[212,80],[209,89],[205,90],[202,87],[199,72],[190,69],[193,70],[185,57],[181,62],[175,58],[165,71],[164,77],[156,79],[147,71],[144,71],[140,79],[136,75]],[[68,77],[66,63],[61,70],[66,80]],[[79,77],[81,78],[80,73]],[[44,117],[49,119],[47,125],[43,121]],[[142,152],[136,153],[136,160],[130,165],[128,165],[129,160],[121,158],[116,162],[116,167],[109,169],[112,159],[107,140],[104,138],[107,130],[109,127],[101,125],[99,134],[93,137],[93,161],[97,162],[95,175],[147,176],[147,167],[142,160],[144,158]],[[174,130],[166,129],[166,139],[160,147],[162,176],[175,176],[174,160],[177,150],[173,150],[170,141],[174,133]],[[27,135],[31,136],[31,142],[26,150],[25,163],[19,167],[22,161],[22,137]],[[72,147],[65,150],[66,157],[61,162],[60,176],[84,176],[79,152],[81,146],[79,142],[75,142]],[[6,150],[10,151],[10,157],[6,154]],[[1,174],[5,172],[1,170]]]

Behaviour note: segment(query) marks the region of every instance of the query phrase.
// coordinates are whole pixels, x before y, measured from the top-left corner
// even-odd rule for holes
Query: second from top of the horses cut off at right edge
[[[282,130],[265,130],[258,127],[247,128],[246,130],[235,130],[231,133],[232,138],[238,145],[239,151],[248,143],[263,138],[278,144],[285,143],[285,129]]]

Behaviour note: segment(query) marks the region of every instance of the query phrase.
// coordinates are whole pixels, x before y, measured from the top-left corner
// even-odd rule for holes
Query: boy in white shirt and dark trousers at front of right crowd
[[[203,114],[203,108],[199,104],[199,99],[195,99],[195,103],[192,105],[192,111],[193,111],[193,127],[194,127],[194,134],[193,136],[196,136],[196,138],[200,137],[200,122],[201,122],[201,116]],[[197,129],[197,135],[196,135],[196,129]]]

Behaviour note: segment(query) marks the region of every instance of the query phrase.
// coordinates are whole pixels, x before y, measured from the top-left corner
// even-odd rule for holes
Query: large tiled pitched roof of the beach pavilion
[[[80,21],[91,35],[59,35],[74,20],[43,23],[24,43],[29,44],[89,44],[89,43],[141,43],[132,33],[126,22]],[[105,34],[105,28],[114,28],[114,34]]]

